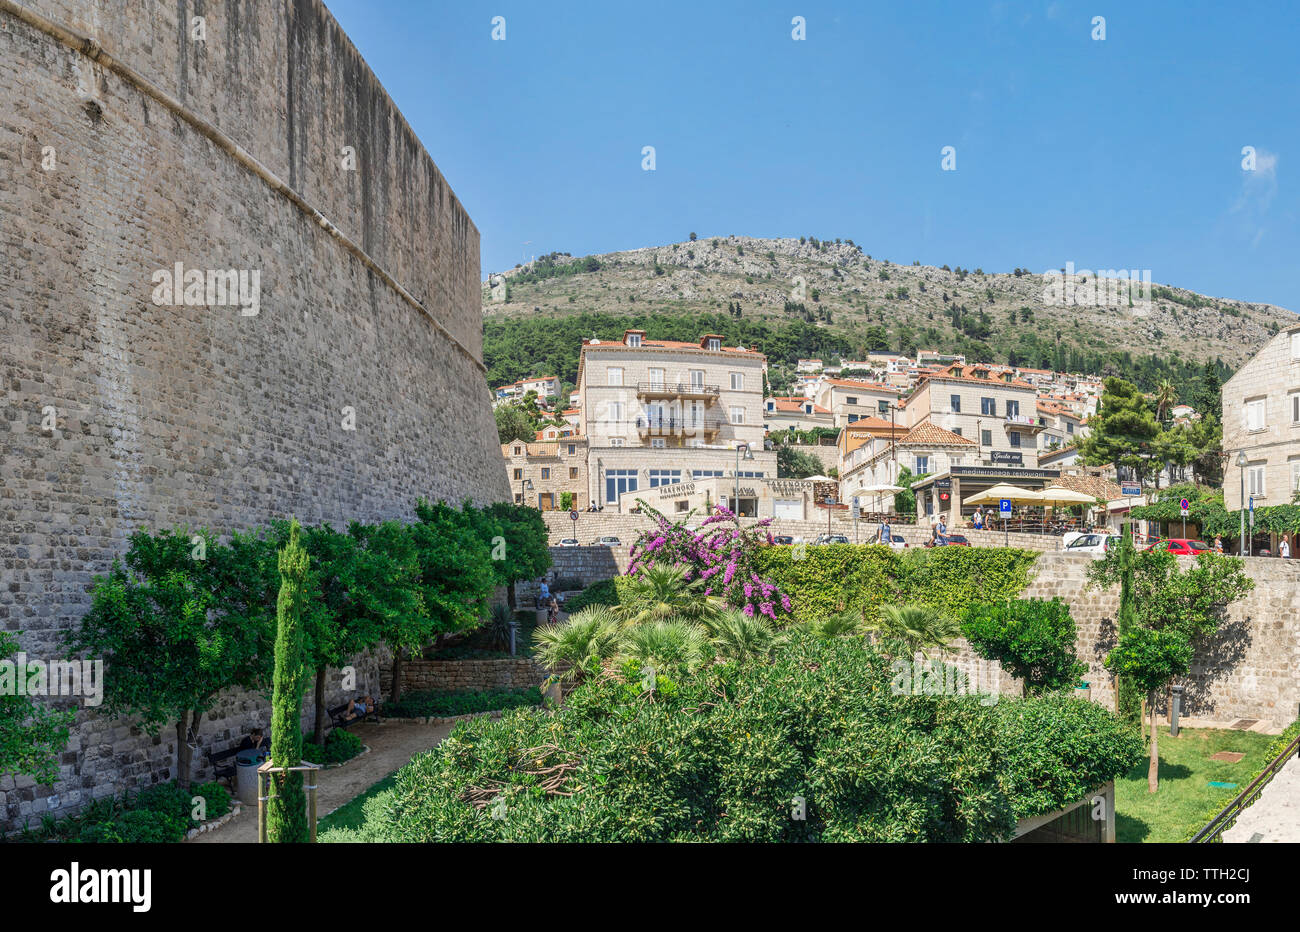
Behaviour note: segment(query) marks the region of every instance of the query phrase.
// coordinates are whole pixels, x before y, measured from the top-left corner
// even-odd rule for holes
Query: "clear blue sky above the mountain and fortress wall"
[[[325,1],[469,211],[484,273],[690,231],[842,237],[1300,311],[1284,3]]]

